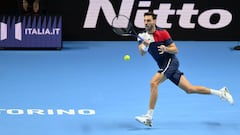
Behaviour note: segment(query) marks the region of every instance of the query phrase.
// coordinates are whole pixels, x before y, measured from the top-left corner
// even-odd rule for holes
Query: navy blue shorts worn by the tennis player
[[[179,62],[177,59],[170,59],[168,63],[163,65],[159,73],[164,73],[167,79],[171,80],[174,84],[178,85],[183,72],[179,69]]]

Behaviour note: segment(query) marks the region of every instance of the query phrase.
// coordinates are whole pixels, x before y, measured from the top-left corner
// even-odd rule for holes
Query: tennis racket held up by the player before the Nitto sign
[[[123,37],[132,36],[132,37],[139,38],[141,41],[144,41],[142,37],[138,36],[129,18],[124,15],[118,15],[113,18],[112,30],[119,36],[123,36]]]

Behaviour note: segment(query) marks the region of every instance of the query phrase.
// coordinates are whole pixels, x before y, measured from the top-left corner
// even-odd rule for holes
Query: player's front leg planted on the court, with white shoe
[[[149,107],[147,114],[142,116],[136,116],[136,120],[147,125],[152,126],[152,117],[153,117],[153,111],[157,102],[158,98],[158,86],[160,83],[162,83],[164,80],[166,80],[166,77],[163,73],[157,72],[150,81],[150,101],[149,101]]]

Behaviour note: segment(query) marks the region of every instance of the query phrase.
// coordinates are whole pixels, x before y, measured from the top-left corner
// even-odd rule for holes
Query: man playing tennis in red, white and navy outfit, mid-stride
[[[233,104],[233,98],[226,87],[214,90],[204,86],[194,86],[186,79],[178,69],[179,61],[175,56],[178,48],[167,30],[156,26],[156,17],[152,12],[144,14],[145,31],[139,34],[144,41],[138,39],[140,54],[144,55],[148,52],[157,62],[159,70],[150,81],[150,101],[147,114],[136,116],[136,120],[147,126],[152,126],[153,112],[158,98],[158,86],[166,79],[172,81],[188,94],[212,94]]]

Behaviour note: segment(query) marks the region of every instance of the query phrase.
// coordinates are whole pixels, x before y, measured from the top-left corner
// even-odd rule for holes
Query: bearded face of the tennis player
[[[144,24],[147,32],[152,33],[155,31],[156,20],[151,15],[144,16]]]

